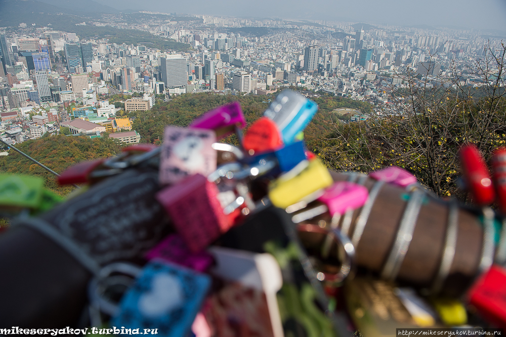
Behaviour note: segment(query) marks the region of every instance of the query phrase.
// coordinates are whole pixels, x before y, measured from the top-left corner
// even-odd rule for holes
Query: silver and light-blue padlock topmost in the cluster
[[[318,105],[292,90],[284,90],[271,103],[264,116],[272,119],[281,131],[285,145],[296,141],[318,110]]]

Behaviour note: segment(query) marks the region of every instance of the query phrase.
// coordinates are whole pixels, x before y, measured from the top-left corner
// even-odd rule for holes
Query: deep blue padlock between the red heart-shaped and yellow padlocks
[[[282,172],[288,172],[298,163],[306,160],[304,142],[294,142],[275,151],[259,153],[255,156],[246,157],[244,159],[246,164],[249,165],[255,165],[261,160],[274,160],[278,163],[274,170],[271,171],[272,175],[277,176]]]

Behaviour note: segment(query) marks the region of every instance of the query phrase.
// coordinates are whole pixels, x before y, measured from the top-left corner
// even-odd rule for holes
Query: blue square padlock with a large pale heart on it
[[[210,277],[205,274],[153,261],[146,265],[124,294],[112,325],[139,329],[145,334],[186,336],[210,283]]]

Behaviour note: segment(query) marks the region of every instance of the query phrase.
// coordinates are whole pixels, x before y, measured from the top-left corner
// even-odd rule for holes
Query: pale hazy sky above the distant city
[[[166,13],[451,25],[506,32],[506,0],[95,0],[111,7]]]

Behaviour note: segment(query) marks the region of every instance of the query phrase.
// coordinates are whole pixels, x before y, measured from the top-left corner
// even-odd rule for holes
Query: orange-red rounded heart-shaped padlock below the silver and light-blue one
[[[276,123],[262,117],[251,125],[244,135],[243,147],[249,154],[274,151],[283,146],[283,139]]]

